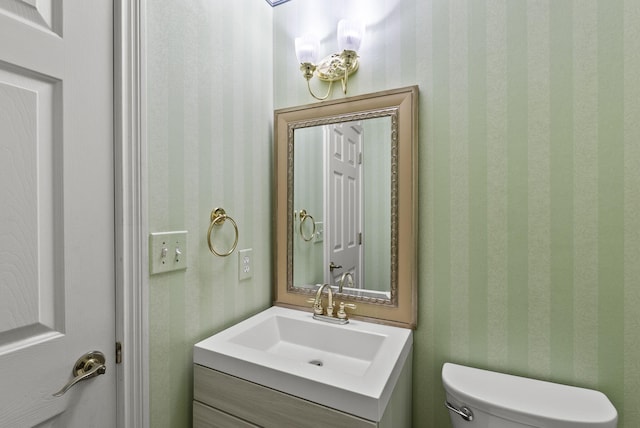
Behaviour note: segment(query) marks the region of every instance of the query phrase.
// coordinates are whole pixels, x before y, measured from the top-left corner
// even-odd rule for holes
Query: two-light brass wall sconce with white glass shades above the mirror
[[[317,100],[325,100],[331,94],[333,82],[342,82],[342,92],[347,93],[349,75],[358,69],[358,49],[364,37],[364,24],[360,21],[343,19],[338,22],[338,51],[322,59],[319,63],[318,54],[320,41],[314,35],[308,34],[295,40],[296,56],[300,62],[300,71],[307,80],[307,88],[311,96]],[[313,76],[329,82],[329,89],[323,97],[318,97],[311,90],[310,80]]]

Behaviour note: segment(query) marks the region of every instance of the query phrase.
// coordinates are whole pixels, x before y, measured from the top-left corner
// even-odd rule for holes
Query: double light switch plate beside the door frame
[[[149,274],[187,268],[187,231],[149,234]]]

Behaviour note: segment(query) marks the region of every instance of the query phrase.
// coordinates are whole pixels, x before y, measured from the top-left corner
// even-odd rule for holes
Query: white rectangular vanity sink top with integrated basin
[[[409,329],[273,306],[194,348],[194,363],[372,421],[413,344]]]

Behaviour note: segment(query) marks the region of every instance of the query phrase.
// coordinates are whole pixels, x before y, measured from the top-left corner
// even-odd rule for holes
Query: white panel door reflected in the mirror
[[[345,272],[362,284],[362,127],[356,122],[327,125],[325,186],[326,275],[338,284]],[[331,269],[333,266],[338,266]]]

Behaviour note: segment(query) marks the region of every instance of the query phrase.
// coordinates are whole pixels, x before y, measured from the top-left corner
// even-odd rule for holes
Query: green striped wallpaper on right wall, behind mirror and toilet
[[[313,101],[293,38],[329,54],[352,15],[350,94],[421,89],[414,426],[449,425],[445,361],[599,389],[637,426],[640,1],[293,0],[276,108]]]

